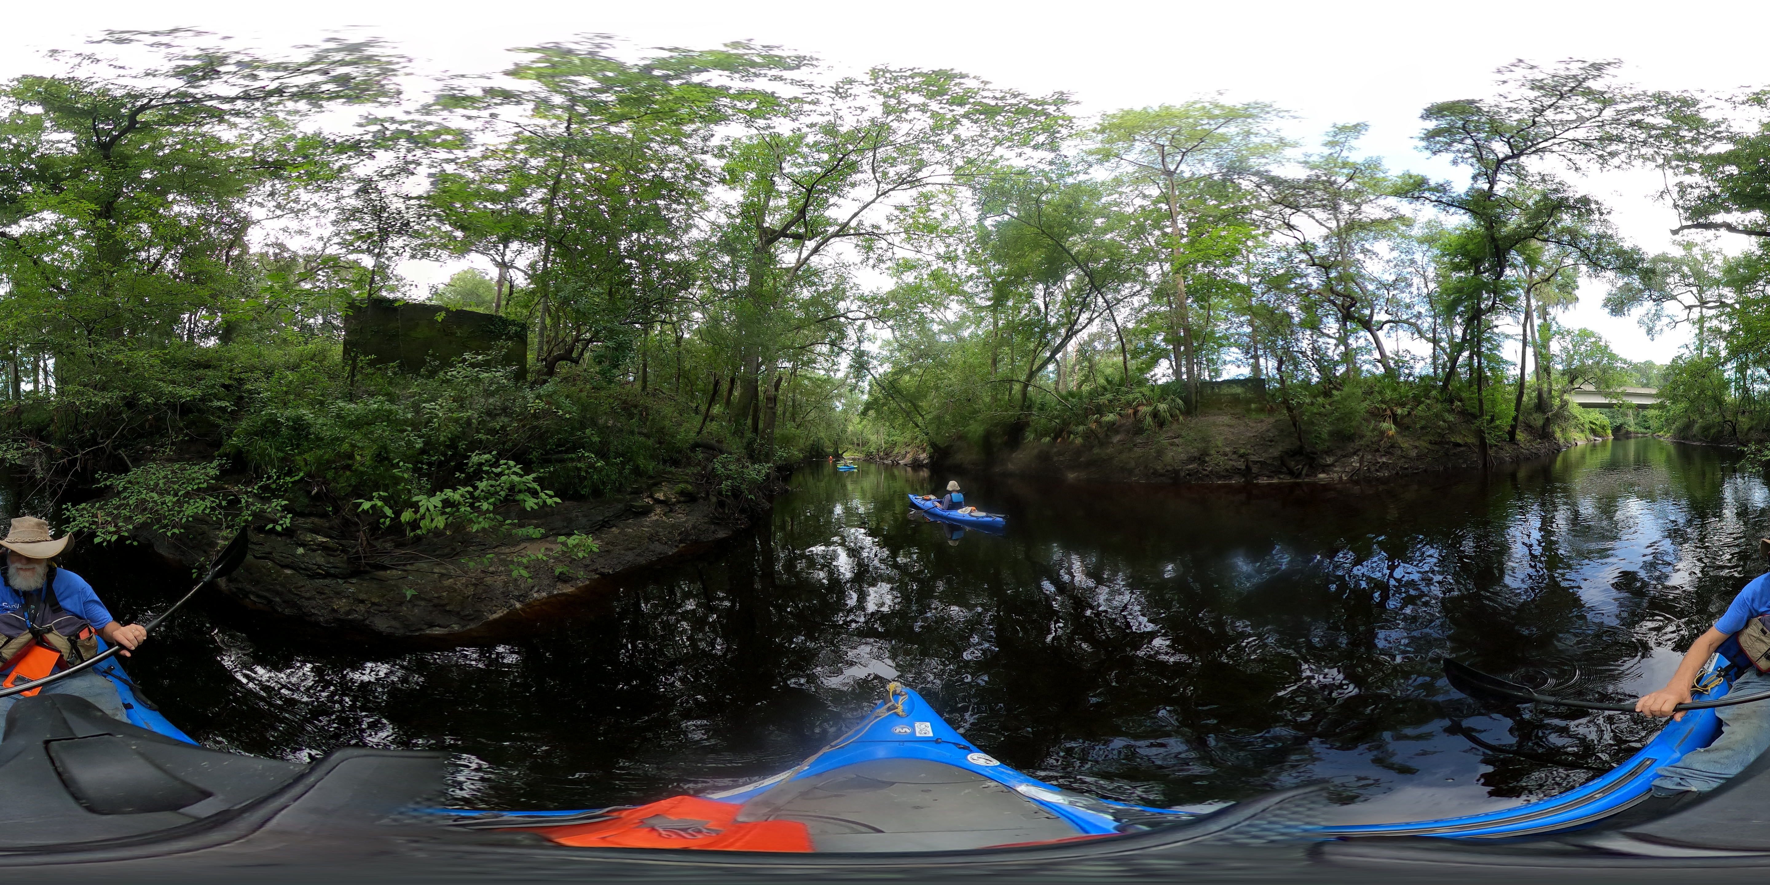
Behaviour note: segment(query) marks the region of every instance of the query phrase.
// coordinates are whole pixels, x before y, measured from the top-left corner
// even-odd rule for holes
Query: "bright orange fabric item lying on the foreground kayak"
[[[609,811],[607,820],[563,827],[512,827],[554,843],[591,848],[699,848],[710,851],[811,851],[811,830],[798,821],[738,821],[743,805],[701,796],[671,796],[650,805]]]

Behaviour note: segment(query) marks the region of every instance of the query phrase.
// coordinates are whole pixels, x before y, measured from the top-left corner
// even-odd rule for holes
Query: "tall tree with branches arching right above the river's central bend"
[[[827,347],[832,324],[862,317],[844,299],[857,253],[889,260],[917,198],[1048,143],[1066,104],[954,71],[878,67],[814,90],[779,127],[733,145],[726,184],[738,200],[724,214],[729,289],[715,329],[736,356],[733,427],[768,423],[765,375],[779,379],[791,352]]]

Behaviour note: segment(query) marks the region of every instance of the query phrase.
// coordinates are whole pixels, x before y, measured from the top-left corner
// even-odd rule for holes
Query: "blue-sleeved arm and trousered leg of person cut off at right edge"
[[[1715,627],[1690,644],[1671,681],[1641,697],[1635,710],[1651,717],[1683,719],[1673,708],[1690,699],[1690,683],[1715,651],[1740,671],[1728,694],[1770,689],[1770,573],[1745,584]],[[1708,747],[1687,752],[1676,765],[1658,768],[1655,796],[1689,798],[1715,789],[1770,747],[1770,701],[1722,706],[1715,713],[1722,722],[1720,736]]]

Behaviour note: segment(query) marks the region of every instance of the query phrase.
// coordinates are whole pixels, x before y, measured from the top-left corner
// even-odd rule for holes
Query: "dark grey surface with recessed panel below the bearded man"
[[[182,827],[260,798],[306,772],[235,756],[41,694],[7,713],[0,742],[0,850],[120,839]]]

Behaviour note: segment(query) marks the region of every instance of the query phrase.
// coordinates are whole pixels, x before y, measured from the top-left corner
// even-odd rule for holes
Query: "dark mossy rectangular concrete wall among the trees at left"
[[[434,372],[467,354],[492,354],[517,373],[529,366],[527,326],[476,310],[372,297],[343,319],[349,361]]]

